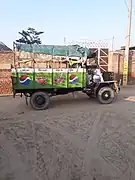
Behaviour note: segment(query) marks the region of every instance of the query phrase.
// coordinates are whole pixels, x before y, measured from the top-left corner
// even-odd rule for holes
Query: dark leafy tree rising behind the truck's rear
[[[23,44],[41,44],[40,35],[43,31],[36,31],[34,28],[28,28],[26,31],[22,30],[19,34],[22,36],[20,39],[16,40],[17,43]]]

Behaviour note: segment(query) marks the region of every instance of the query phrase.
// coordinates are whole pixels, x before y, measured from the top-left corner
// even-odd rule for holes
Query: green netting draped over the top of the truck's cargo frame
[[[53,56],[85,57],[92,53],[88,48],[79,45],[57,46],[57,45],[29,45],[16,44],[18,51],[34,52]]]

